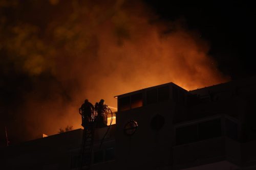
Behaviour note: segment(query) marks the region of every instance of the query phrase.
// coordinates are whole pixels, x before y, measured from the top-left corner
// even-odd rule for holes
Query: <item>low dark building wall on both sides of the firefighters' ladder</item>
[[[107,127],[108,128],[108,127]],[[92,169],[98,169],[101,166],[114,167],[114,159],[106,159],[106,149],[115,148],[115,125],[111,127],[106,135],[101,148],[100,142],[107,128],[97,129],[95,131],[94,151],[92,153],[92,163],[94,161],[94,152],[102,151],[103,160],[93,163]],[[4,169],[76,169],[80,163],[72,165],[72,161],[79,161],[78,156],[81,152],[82,129],[73,130],[66,133],[40,138],[18,145],[11,145],[3,149],[4,158],[1,163]],[[108,166],[104,164],[109,164]]]

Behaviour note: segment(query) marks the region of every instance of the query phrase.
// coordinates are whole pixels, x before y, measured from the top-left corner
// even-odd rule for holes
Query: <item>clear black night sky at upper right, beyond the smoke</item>
[[[255,6],[246,1],[147,1],[162,19],[185,18],[210,42],[209,53],[232,79],[255,75]]]

